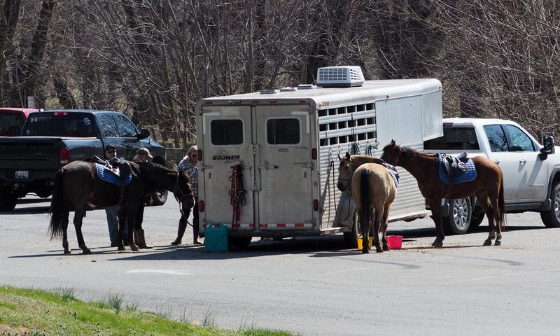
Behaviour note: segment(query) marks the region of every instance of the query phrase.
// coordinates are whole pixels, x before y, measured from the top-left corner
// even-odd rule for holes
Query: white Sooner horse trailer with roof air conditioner
[[[332,235],[356,244],[355,205],[336,188],[338,155],[376,155],[391,139],[417,151],[441,137],[437,79],[363,80],[358,66],[318,69],[317,85],[197,102],[200,235],[212,223],[230,242]],[[399,168],[390,221],[430,215]]]

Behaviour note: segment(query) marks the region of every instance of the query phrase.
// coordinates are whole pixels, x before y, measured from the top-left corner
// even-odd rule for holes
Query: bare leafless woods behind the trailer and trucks
[[[358,65],[366,79],[440,79],[444,116],[560,139],[554,0],[0,1],[2,106],[123,111],[181,147],[200,98]]]

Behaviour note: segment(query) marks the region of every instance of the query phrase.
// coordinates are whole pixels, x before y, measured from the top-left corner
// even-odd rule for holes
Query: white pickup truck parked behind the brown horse
[[[424,151],[493,160],[503,172],[506,211],[538,211],[547,228],[560,228],[560,147],[552,137],[543,137],[541,145],[510,120],[472,118],[443,119],[443,134],[424,142]],[[448,234],[461,235],[484,219],[474,196],[443,205]]]

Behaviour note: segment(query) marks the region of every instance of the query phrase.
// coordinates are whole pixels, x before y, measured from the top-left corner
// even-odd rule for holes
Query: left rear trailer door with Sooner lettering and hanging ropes
[[[203,106],[202,151],[204,169],[199,188],[204,195],[200,221],[223,223],[232,230],[254,230],[254,154],[251,106]],[[201,141],[199,140],[199,143]],[[238,214],[232,207],[232,170],[241,165],[242,187]],[[236,216],[235,216],[236,215]],[[237,215],[239,220],[237,220]],[[235,216],[235,217],[234,217]]]

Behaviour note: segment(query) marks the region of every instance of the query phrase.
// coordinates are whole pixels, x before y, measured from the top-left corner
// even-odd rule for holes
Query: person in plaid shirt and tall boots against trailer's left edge
[[[195,206],[193,207],[193,244],[200,245],[200,241],[198,241],[198,167],[197,167],[197,146],[190,146],[188,148],[187,155],[179,162],[177,165],[177,172],[181,172],[184,170],[190,182],[190,189],[193,191],[193,196],[195,197]],[[179,228],[177,229],[177,238],[172,241],[172,245],[181,245],[183,235],[185,234],[185,230],[187,228],[187,220],[190,215],[190,209],[185,209],[183,207],[183,211],[181,214],[181,219],[179,219]]]

